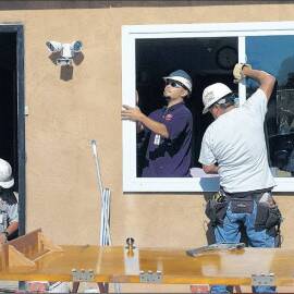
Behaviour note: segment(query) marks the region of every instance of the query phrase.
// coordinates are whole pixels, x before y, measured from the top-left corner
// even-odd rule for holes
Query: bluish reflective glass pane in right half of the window
[[[277,78],[268,105],[265,131],[269,162],[275,176],[294,175],[294,36],[246,38],[247,62]],[[247,79],[247,97],[257,84]]]

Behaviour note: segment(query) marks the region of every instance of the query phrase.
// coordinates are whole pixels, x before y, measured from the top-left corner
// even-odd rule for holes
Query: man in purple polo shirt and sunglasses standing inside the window
[[[192,78],[186,72],[177,70],[163,79],[167,107],[147,117],[138,107],[123,106],[122,119],[138,122],[146,136],[149,136],[142,176],[191,176],[193,118],[184,99],[192,93]]]

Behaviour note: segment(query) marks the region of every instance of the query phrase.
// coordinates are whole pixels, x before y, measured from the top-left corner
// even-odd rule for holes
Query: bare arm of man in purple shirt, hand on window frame
[[[147,128],[152,131],[154,133],[168,138],[169,132],[167,126],[163,123],[159,123],[155,120],[149,119],[147,115],[142,113],[138,107],[130,107],[123,106],[123,110],[121,112],[122,120],[131,120],[134,122],[143,123]]]

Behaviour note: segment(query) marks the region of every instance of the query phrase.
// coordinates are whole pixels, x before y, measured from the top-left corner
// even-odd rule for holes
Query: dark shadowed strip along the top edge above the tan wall
[[[253,5],[293,3],[293,0],[256,0],[256,1],[212,1],[212,0],[37,0],[37,1],[1,1],[0,10],[34,10],[34,9],[103,9],[103,8],[121,8],[121,7],[207,7],[207,5]]]

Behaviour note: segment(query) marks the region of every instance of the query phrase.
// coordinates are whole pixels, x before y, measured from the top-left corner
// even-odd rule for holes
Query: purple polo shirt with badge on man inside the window
[[[161,108],[149,114],[149,118],[163,123],[169,138],[150,132],[146,152],[144,177],[182,177],[191,176],[191,143],[193,118],[184,102],[170,108]]]

